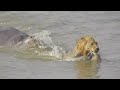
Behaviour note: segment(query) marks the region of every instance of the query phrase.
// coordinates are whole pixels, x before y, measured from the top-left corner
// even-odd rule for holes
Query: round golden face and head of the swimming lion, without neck
[[[91,59],[99,51],[98,43],[90,35],[83,36],[77,42],[76,48],[79,55],[86,56],[87,59]]]

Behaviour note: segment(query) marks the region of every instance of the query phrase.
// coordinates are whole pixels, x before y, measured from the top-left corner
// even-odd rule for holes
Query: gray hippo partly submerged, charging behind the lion
[[[30,36],[13,27],[0,26],[0,46],[11,47],[25,44],[26,47],[39,47],[40,43]]]

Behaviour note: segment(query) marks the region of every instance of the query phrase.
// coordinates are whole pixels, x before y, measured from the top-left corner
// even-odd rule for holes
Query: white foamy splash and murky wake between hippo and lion
[[[1,49],[0,51],[13,52],[15,57],[24,59],[51,59],[59,61],[79,61],[86,60],[85,57],[79,58],[64,58],[66,54],[65,47],[61,43],[54,42],[50,32],[42,30],[38,33],[30,34],[36,39],[40,45],[38,48],[26,48],[26,44],[19,42],[14,47],[7,49]],[[2,48],[2,47],[1,47]]]

